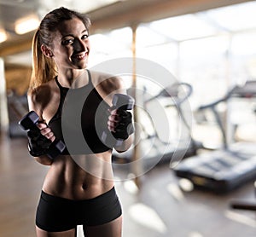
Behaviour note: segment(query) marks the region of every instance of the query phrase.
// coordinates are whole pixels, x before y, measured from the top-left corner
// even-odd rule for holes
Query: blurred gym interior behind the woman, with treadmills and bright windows
[[[49,169],[19,125],[35,28],[15,25],[67,6],[90,15],[90,68],[136,99],[136,142],[113,153],[123,236],[255,236],[256,1],[87,2],[0,1],[0,235],[35,236]]]

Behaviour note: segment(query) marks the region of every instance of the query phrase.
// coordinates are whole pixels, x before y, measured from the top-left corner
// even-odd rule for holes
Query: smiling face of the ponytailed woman
[[[52,52],[58,69],[84,69],[90,52],[88,30],[78,18],[63,21],[53,36]]]

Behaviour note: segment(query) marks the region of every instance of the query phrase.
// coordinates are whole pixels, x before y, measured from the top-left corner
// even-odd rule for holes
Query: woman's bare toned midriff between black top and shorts
[[[67,199],[91,199],[113,187],[111,153],[61,155],[45,176],[43,190]]]

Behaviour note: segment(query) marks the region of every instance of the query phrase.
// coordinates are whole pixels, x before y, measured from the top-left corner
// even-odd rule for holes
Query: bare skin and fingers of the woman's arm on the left
[[[41,134],[48,138],[51,142],[55,141],[55,136],[53,132],[49,129],[46,123],[44,123],[43,118],[43,101],[40,99],[40,96],[38,96],[38,92],[32,91],[29,92],[27,95],[27,101],[28,101],[28,108],[29,111],[34,111],[38,114],[40,123],[37,124],[39,130],[41,131]],[[46,154],[40,155],[40,156],[34,156],[34,158],[38,161],[38,163],[42,165],[51,165],[52,159],[49,158]]]

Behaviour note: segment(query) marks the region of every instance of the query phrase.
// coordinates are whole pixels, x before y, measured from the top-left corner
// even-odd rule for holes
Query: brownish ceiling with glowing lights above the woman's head
[[[90,14],[93,31],[132,26],[138,22],[159,20],[179,14],[217,8],[244,0],[0,0],[0,29],[8,34],[7,41],[0,43],[0,57],[7,63],[27,61],[33,32],[15,33],[15,22],[28,15],[41,20],[52,9],[64,6]],[[21,63],[22,64],[22,63]]]

